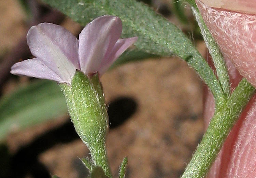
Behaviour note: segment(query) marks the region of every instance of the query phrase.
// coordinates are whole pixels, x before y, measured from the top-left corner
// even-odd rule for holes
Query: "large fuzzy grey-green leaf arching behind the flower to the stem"
[[[225,101],[222,87],[210,66],[195,49],[187,36],[175,25],[147,5],[136,0],[43,0],[74,21],[87,25],[102,15],[116,15],[123,22],[125,38],[138,36],[134,44],[147,53],[177,55],[186,60],[211,89],[216,103]]]

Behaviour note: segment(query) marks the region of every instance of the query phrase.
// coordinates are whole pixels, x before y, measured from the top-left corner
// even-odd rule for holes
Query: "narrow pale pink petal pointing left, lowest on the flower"
[[[65,83],[60,76],[49,69],[41,60],[34,58],[15,63],[11,68],[11,73],[15,75],[26,75],[29,77],[55,80]]]

